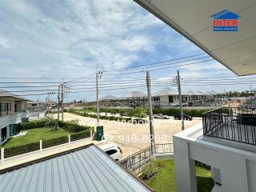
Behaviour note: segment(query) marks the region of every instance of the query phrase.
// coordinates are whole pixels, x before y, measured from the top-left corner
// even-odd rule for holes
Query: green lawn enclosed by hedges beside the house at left
[[[1,147],[21,146],[30,142],[58,138],[69,134],[69,132],[62,130],[61,128],[58,128],[58,130],[55,131],[52,131],[51,128],[36,128],[22,131],[27,131],[26,135],[10,138],[10,140],[2,144]]]

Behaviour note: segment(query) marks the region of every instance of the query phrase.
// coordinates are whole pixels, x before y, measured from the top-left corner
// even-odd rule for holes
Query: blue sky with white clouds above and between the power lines
[[[99,70],[110,70],[200,53],[203,51],[197,46],[131,0],[0,2],[2,77],[80,78],[94,73],[97,65]],[[173,78],[176,70],[177,68],[152,71],[151,76]],[[200,63],[193,67],[184,66],[179,70],[185,77],[232,75],[230,70],[218,62]],[[103,74],[102,81],[144,77],[145,74]],[[250,85],[186,86],[184,89],[249,90]],[[67,94],[66,99],[93,100],[93,94]],[[104,94],[122,93],[110,91]],[[45,96],[39,98],[42,100]],[[53,96],[53,99],[55,98]]]

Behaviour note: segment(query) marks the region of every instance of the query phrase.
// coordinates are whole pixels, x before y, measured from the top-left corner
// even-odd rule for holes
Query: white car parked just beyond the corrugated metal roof
[[[114,142],[102,143],[98,147],[117,162],[123,159],[122,150]]]

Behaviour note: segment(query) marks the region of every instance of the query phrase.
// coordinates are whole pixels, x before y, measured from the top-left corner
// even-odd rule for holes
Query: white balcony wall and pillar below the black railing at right
[[[250,145],[249,145],[250,146]],[[174,135],[174,159],[177,191],[196,192],[194,161],[210,165],[222,191],[256,191],[256,154],[202,139],[202,126],[194,126]]]

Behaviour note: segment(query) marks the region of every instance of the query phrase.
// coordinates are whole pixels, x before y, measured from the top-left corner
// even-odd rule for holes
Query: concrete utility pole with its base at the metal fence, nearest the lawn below
[[[147,100],[149,103],[149,118],[150,118],[150,147],[152,154],[154,155],[154,122],[153,122],[153,110],[151,100],[151,82],[150,82],[150,71],[146,71],[146,86],[147,86]]]

